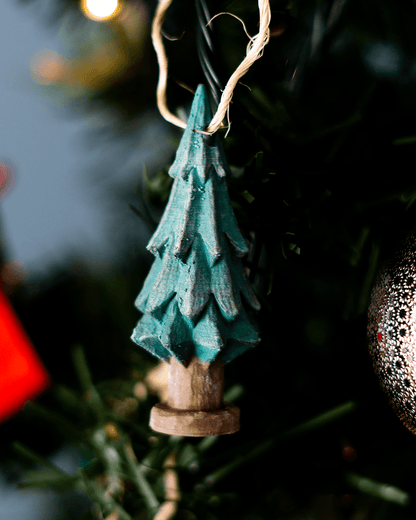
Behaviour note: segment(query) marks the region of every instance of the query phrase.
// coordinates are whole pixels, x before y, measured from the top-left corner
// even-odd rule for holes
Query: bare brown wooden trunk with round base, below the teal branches
[[[184,367],[170,358],[167,402],[152,408],[150,427],[158,432],[187,437],[235,433],[240,410],[223,402],[224,365],[203,363],[197,356]]]

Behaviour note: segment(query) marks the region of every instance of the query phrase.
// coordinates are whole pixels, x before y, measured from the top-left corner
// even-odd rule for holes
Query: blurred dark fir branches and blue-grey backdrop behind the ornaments
[[[154,518],[172,454],[182,498],[159,520],[415,517],[415,439],[379,388],[366,320],[416,221],[416,5],[271,8],[222,139],[262,342],[226,367],[241,430],[201,440],[150,430],[166,371],[130,340],[182,135],[155,106],[156,2],[99,20],[81,0],[3,0],[1,287],[52,385],[0,424],[0,518]],[[168,104],[184,121],[201,82],[215,109],[245,53],[235,18],[206,28],[220,12],[256,33],[252,0],[167,12]]]

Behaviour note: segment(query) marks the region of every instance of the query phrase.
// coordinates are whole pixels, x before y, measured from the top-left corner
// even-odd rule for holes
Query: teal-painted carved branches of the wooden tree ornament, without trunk
[[[200,85],[169,170],[169,201],[147,246],[156,259],[135,302],[143,316],[131,339],[165,361],[196,354],[228,363],[260,341],[251,316],[260,304],[241,263],[248,244],[225,182],[230,170],[218,137],[209,146],[194,132],[211,118]]]

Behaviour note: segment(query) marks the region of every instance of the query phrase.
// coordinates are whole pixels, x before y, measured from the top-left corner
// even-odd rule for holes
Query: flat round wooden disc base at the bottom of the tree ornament
[[[240,429],[240,409],[224,403],[217,410],[195,411],[156,404],[150,412],[152,430],[183,437],[206,437],[235,433]]]

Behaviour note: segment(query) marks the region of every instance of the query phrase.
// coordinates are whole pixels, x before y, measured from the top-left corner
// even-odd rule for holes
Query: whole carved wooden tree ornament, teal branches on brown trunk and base
[[[196,91],[169,175],[168,204],[147,249],[156,259],[135,302],[132,340],[170,363],[167,402],[150,426],[171,435],[234,433],[240,411],[223,402],[224,365],[254,347],[260,304],[241,262],[248,252],[227,191],[229,173],[205,87]]]

